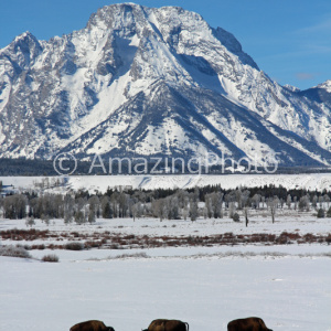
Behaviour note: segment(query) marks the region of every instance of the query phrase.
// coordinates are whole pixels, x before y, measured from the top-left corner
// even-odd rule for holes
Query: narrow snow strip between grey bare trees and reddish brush
[[[241,211],[238,211],[241,214]],[[253,214],[254,211],[249,212],[249,223],[245,226],[244,217],[242,222],[233,222],[232,218],[199,218],[196,222],[184,221],[184,220],[167,220],[160,222],[157,218],[98,218],[93,225],[88,223],[76,225],[72,223],[65,225],[63,220],[53,220],[47,226],[40,220],[35,220],[35,229],[49,229],[51,232],[74,232],[79,233],[104,233],[105,231],[111,232],[111,234],[124,234],[124,235],[148,235],[148,236],[182,236],[182,235],[214,235],[224,233],[234,234],[281,234],[282,232],[298,233],[305,235],[312,233],[316,235],[325,235],[331,232],[331,218],[317,218],[309,213],[299,213],[290,211],[289,214],[279,213],[276,214],[276,222],[271,223],[271,217],[267,211],[259,211]],[[0,231],[9,228],[23,228],[26,229],[25,220],[1,220]],[[8,244],[8,243],[7,243]]]

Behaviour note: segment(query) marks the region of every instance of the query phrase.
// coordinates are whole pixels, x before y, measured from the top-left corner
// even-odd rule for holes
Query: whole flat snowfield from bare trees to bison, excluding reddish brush
[[[327,234],[330,224],[330,218],[310,216],[284,217],[271,224],[256,216],[248,228],[227,218],[194,223],[98,220],[83,226],[55,221],[49,227],[36,221],[34,227],[152,236],[282,231]],[[26,228],[24,221],[0,221],[1,231],[14,227]],[[68,330],[76,322],[99,319],[116,331],[130,331],[147,328],[156,318],[181,319],[190,323],[191,331],[226,330],[232,319],[258,316],[274,331],[330,331],[330,247],[44,249],[30,250],[32,259],[0,257],[0,330]],[[60,263],[40,261],[46,254],[56,254]]]

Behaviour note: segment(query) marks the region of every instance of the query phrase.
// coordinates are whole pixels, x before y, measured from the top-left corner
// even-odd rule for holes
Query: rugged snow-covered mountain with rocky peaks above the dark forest
[[[233,34],[178,7],[114,4],[0,50],[0,157],[61,151],[331,164],[331,83],[282,87]]]

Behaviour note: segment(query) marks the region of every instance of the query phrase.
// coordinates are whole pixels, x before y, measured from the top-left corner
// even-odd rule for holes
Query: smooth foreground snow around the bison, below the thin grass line
[[[331,330],[330,258],[0,260],[1,330],[68,330],[88,319],[141,330],[154,318],[226,330],[248,316],[276,331]]]

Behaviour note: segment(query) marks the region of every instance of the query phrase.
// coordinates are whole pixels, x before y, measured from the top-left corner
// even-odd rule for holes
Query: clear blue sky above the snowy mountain
[[[85,26],[90,13],[120,1],[0,0],[0,47],[30,31],[40,40]],[[309,88],[331,79],[330,0],[141,0],[180,6],[232,32],[260,70],[285,85]]]

